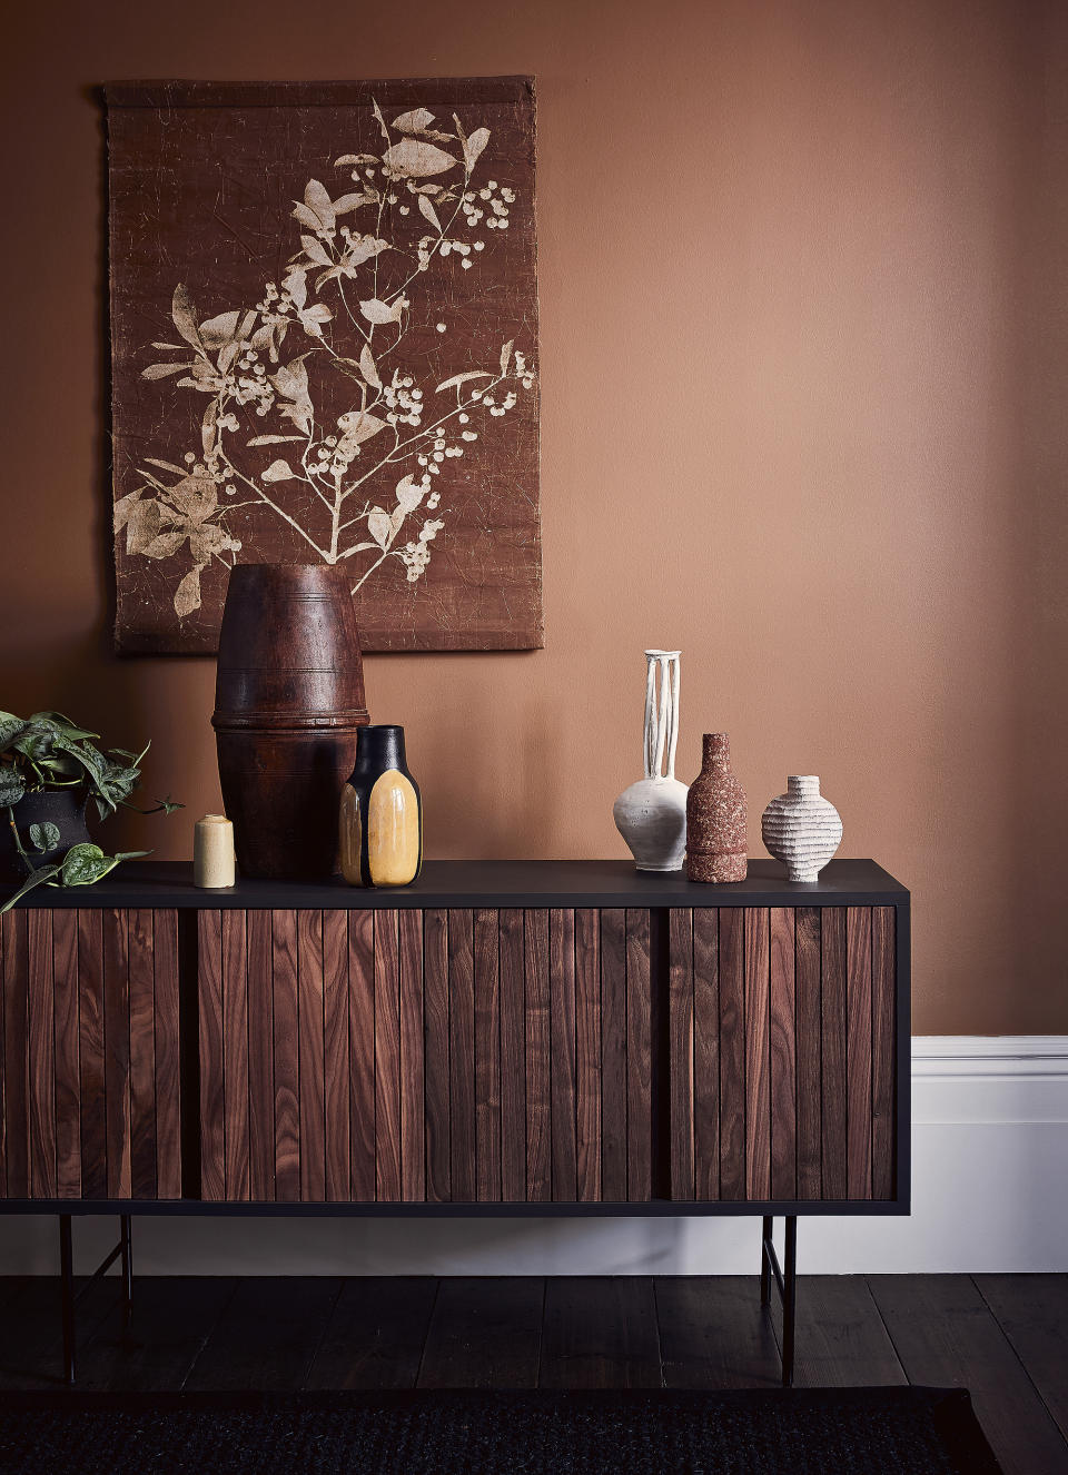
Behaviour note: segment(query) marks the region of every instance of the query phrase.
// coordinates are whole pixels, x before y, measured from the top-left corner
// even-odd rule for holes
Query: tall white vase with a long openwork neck
[[[686,785],[676,779],[679,650],[646,650],[645,779],[612,807],[615,826],[639,870],[682,870],[686,858]]]

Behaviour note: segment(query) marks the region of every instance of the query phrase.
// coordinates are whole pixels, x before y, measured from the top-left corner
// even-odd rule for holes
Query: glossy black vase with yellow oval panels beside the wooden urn
[[[403,727],[361,727],[356,767],[341,791],[341,873],[353,886],[407,886],[423,863],[419,785],[404,761]]]

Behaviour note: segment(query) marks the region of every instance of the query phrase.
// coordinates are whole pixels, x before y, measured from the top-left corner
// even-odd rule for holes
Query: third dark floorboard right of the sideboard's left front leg
[[[307,1388],[415,1388],[438,1282],[434,1276],[347,1280]]]

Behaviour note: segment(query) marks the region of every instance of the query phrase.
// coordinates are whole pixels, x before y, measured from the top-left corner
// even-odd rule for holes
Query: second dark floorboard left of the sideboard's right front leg
[[[546,1282],[541,1388],[661,1388],[651,1276]]]

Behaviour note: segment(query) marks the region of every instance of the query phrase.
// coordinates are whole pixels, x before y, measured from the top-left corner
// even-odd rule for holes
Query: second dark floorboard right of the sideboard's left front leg
[[[339,1294],[341,1280],[326,1276],[239,1280],[186,1388],[302,1388]]]

